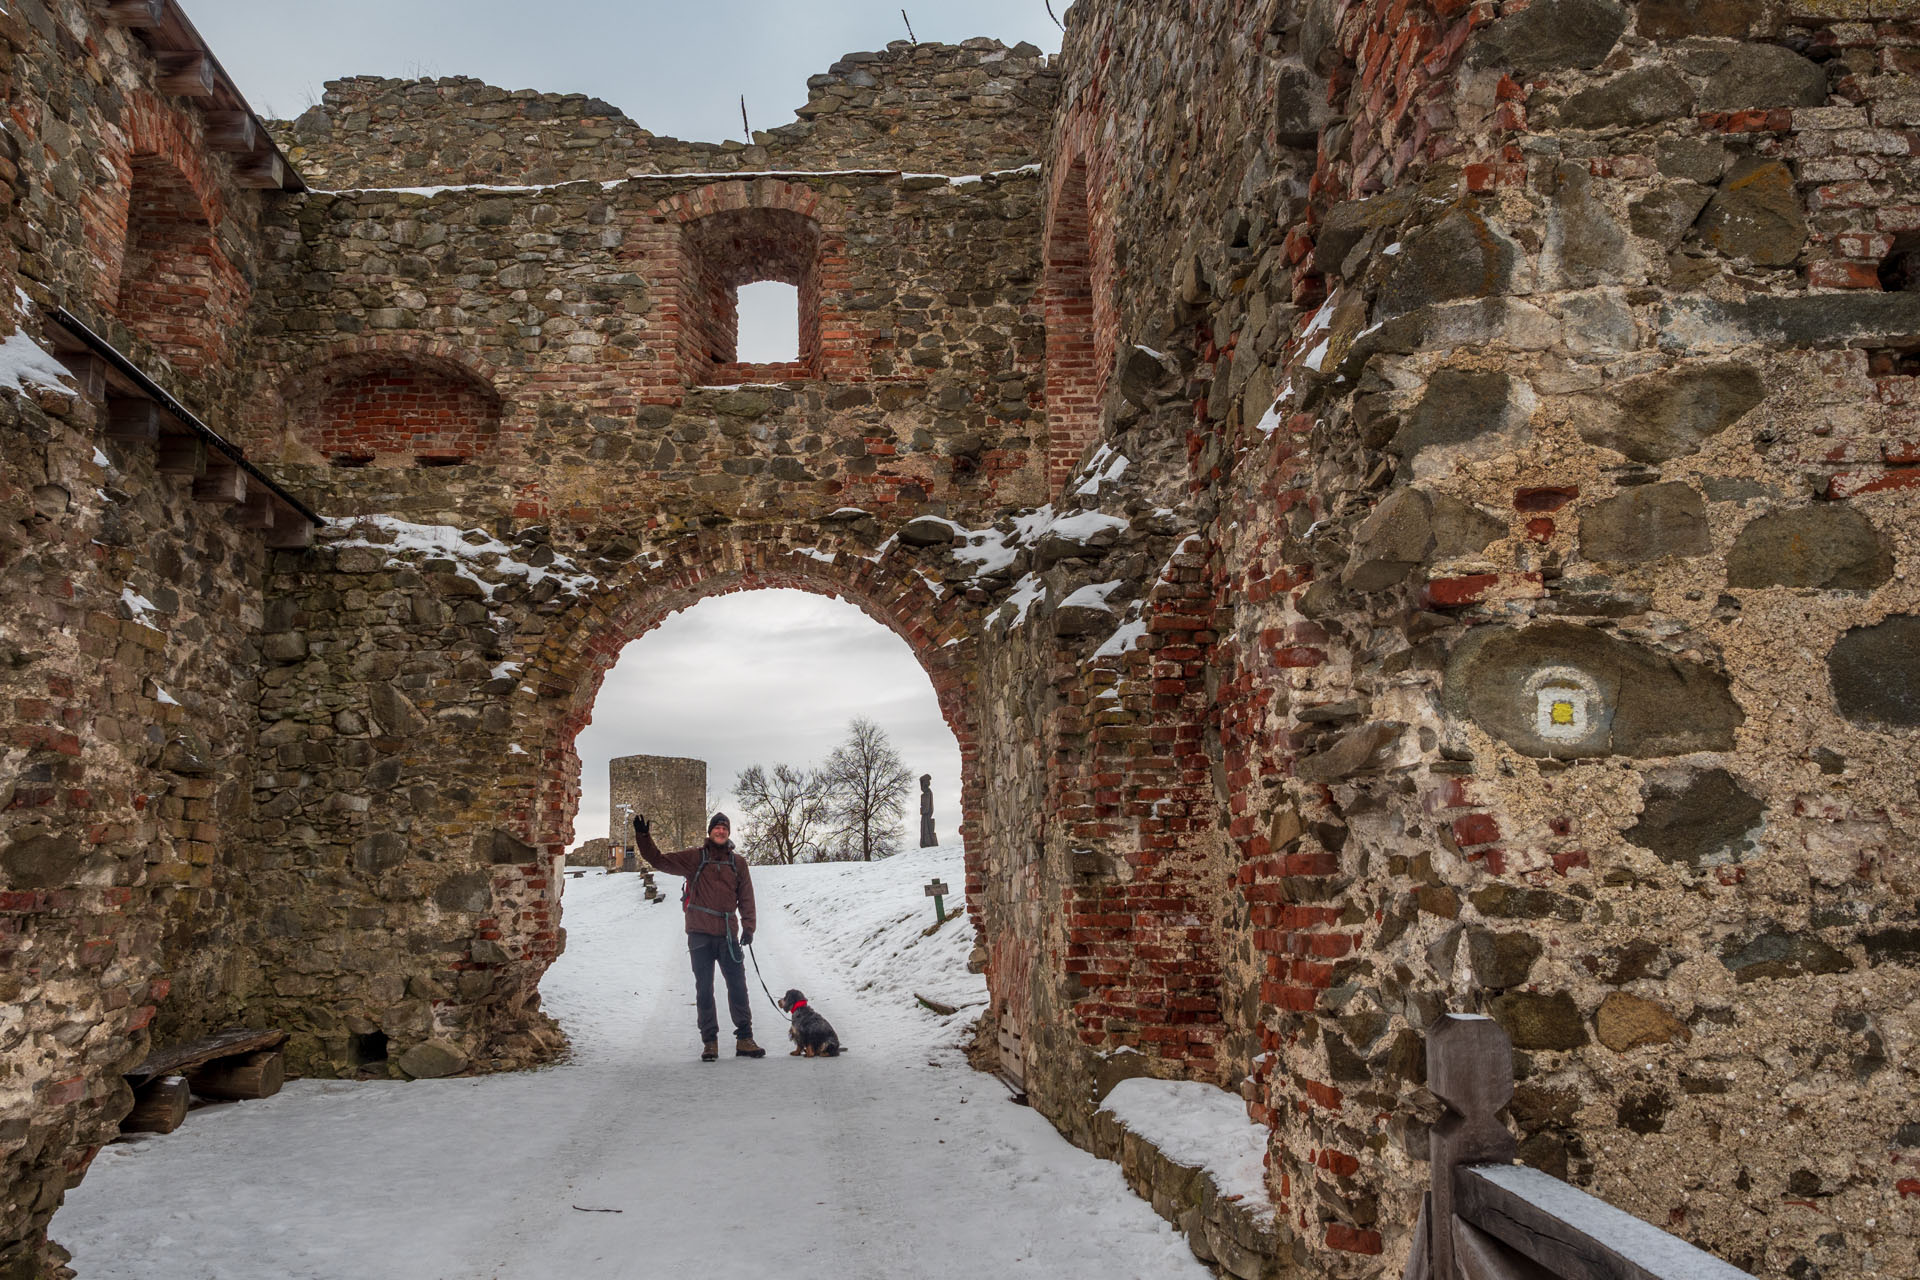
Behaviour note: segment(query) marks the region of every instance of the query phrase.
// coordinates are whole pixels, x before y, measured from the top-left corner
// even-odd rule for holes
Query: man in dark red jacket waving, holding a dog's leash
[[[753,942],[753,881],[747,860],[733,852],[733,823],[726,814],[707,821],[707,842],[662,854],[643,814],[634,816],[634,844],[660,871],[687,877],[680,904],[687,912],[687,954],[693,958],[693,1000],[701,1019],[701,1061],[720,1057],[720,1015],[714,1009],[714,963],[726,975],[726,1007],[733,1015],[733,1055],[766,1057],[753,1042],[753,1006],[747,1002],[743,946]],[[739,942],[733,913],[739,912]]]

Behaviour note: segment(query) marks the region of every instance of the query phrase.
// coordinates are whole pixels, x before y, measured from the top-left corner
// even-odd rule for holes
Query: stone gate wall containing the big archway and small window
[[[914,647],[970,750],[968,620],[1010,581],[939,549],[1041,497],[1037,221],[1035,173],[280,203],[248,443],[342,518],[276,557],[267,618],[261,735],[288,764],[259,779],[257,890],[294,915],[248,940],[298,1069],[378,1069],[361,1025],[390,1071],[419,1044],[553,1052],[574,735],[676,608],[841,593]],[[801,282],[799,367],[708,359],[753,278]],[[707,386],[741,372],[778,380]]]

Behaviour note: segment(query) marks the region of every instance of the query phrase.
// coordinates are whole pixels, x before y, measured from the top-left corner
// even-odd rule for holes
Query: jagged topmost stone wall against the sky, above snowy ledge
[[[276,123],[275,134],[313,186],[332,190],[756,169],[970,175],[1037,163],[1035,121],[1052,94],[1054,71],[1031,44],[895,40],[812,77],[797,119],[755,130],[751,142],[660,138],[597,98],[470,77],[330,81],[315,107]]]

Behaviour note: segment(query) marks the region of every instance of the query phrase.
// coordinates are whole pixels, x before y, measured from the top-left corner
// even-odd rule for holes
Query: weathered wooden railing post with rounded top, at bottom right
[[[1507,1032],[1490,1017],[1444,1013],[1427,1029],[1427,1088],[1448,1105],[1430,1138],[1430,1276],[1469,1280],[1455,1263],[1453,1173],[1461,1165],[1513,1163],[1513,1134],[1500,1121],[1500,1111],[1513,1102],[1513,1042]]]

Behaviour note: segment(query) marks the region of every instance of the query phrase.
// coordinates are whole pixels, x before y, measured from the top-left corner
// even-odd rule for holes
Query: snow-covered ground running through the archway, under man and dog
[[[541,990],[570,1061],[194,1111],[102,1151],[54,1238],[83,1280],[1206,1276],[1114,1165],[966,1067],[985,984],[966,919],[922,936],[935,875],[958,910],[958,846],[758,867],[766,983],[849,1052],[787,1057],[749,965],[768,1057],[718,1063],[697,1061],[678,894],[568,879]]]

